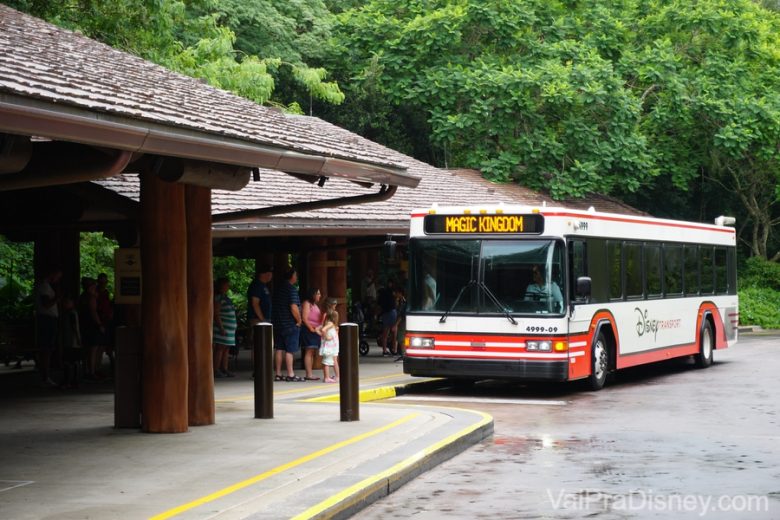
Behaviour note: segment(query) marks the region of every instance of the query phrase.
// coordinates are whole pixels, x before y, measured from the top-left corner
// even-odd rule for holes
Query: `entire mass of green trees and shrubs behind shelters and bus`
[[[0,1],[438,166],[731,214],[743,260],[780,260],[775,0]],[[743,322],[777,308],[758,262]]]

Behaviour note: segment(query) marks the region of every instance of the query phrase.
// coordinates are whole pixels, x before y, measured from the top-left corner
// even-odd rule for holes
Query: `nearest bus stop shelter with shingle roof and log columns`
[[[260,179],[250,208],[275,205],[261,168],[344,179],[361,202],[418,184],[396,155],[323,125],[0,5],[0,233],[34,241],[37,271],[60,266],[72,294],[80,231],[140,244],[144,431],[214,422],[212,190]],[[94,196],[124,172],[136,205]]]

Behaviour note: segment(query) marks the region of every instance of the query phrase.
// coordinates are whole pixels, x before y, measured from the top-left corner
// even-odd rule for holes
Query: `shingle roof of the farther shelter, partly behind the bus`
[[[324,121],[318,124],[327,125]],[[376,145],[379,146],[379,145]],[[642,212],[602,195],[584,199],[553,201],[516,184],[497,184],[484,179],[476,170],[443,170],[400,154],[389,148],[385,153],[403,159],[408,172],[420,177],[417,188],[400,187],[389,200],[370,204],[340,206],[337,208],[287,213],[241,222],[235,226],[247,234],[277,234],[280,230],[305,228],[310,234],[317,229],[337,232],[338,230],[376,230],[402,232],[408,227],[412,210],[427,208],[434,202],[439,205],[474,205],[479,203],[539,204],[587,209],[593,206],[598,211],[611,213],[643,214]],[[138,200],[138,177],[121,175],[112,179],[96,181],[101,186],[121,195]],[[372,188],[373,189],[373,188]],[[246,209],[261,208],[307,202],[311,200],[364,195],[371,190],[342,179],[330,179],[323,187],[290,178],[274,170],[261,170],[260,182],[250,182],[239,192],[214,190],[212,211],[214,214],[230,213]],[[227,224],[218,228],[227,229]],[[240,233],[242,231],[238,231]],[[368,233],[370,234],[370,233]]]

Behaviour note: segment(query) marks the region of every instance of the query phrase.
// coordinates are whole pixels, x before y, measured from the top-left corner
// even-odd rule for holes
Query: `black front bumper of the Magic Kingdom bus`
[[[569,361],[404,357],[404,373],[424,377],[566,381]]]

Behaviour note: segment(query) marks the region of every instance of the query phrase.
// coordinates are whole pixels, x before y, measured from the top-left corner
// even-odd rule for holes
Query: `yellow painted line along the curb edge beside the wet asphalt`
[[[330,498],[323,500],[319,504],[310,507],[303,513],[294,516],[292,520],[310,520],[312,518],[318,517],[319,515],[323,515],[325,518],[335,516],[339,512],[352,507],[362,500],[365,500],[377,490],[389,486],[391,482],[399,480],[405,472],[412,471],[415,466],[423,463],[427,458],[435,455],[438,451],[444,449],[449,444],[457,442],[458,440],[468,436],[469,434],[490,424],[493,421],[493,417],[489,414],[477,410],[468,411],[482,416],[482,419],[480,419],[477,423],[450,435],[446,439],[436,442],[431,446],[418,451],[411,457],[402,460],[391,468],[368,477],[358,482],[357,484],[354,484],[353,486],[350,486],[343,491],[331,496]]]

